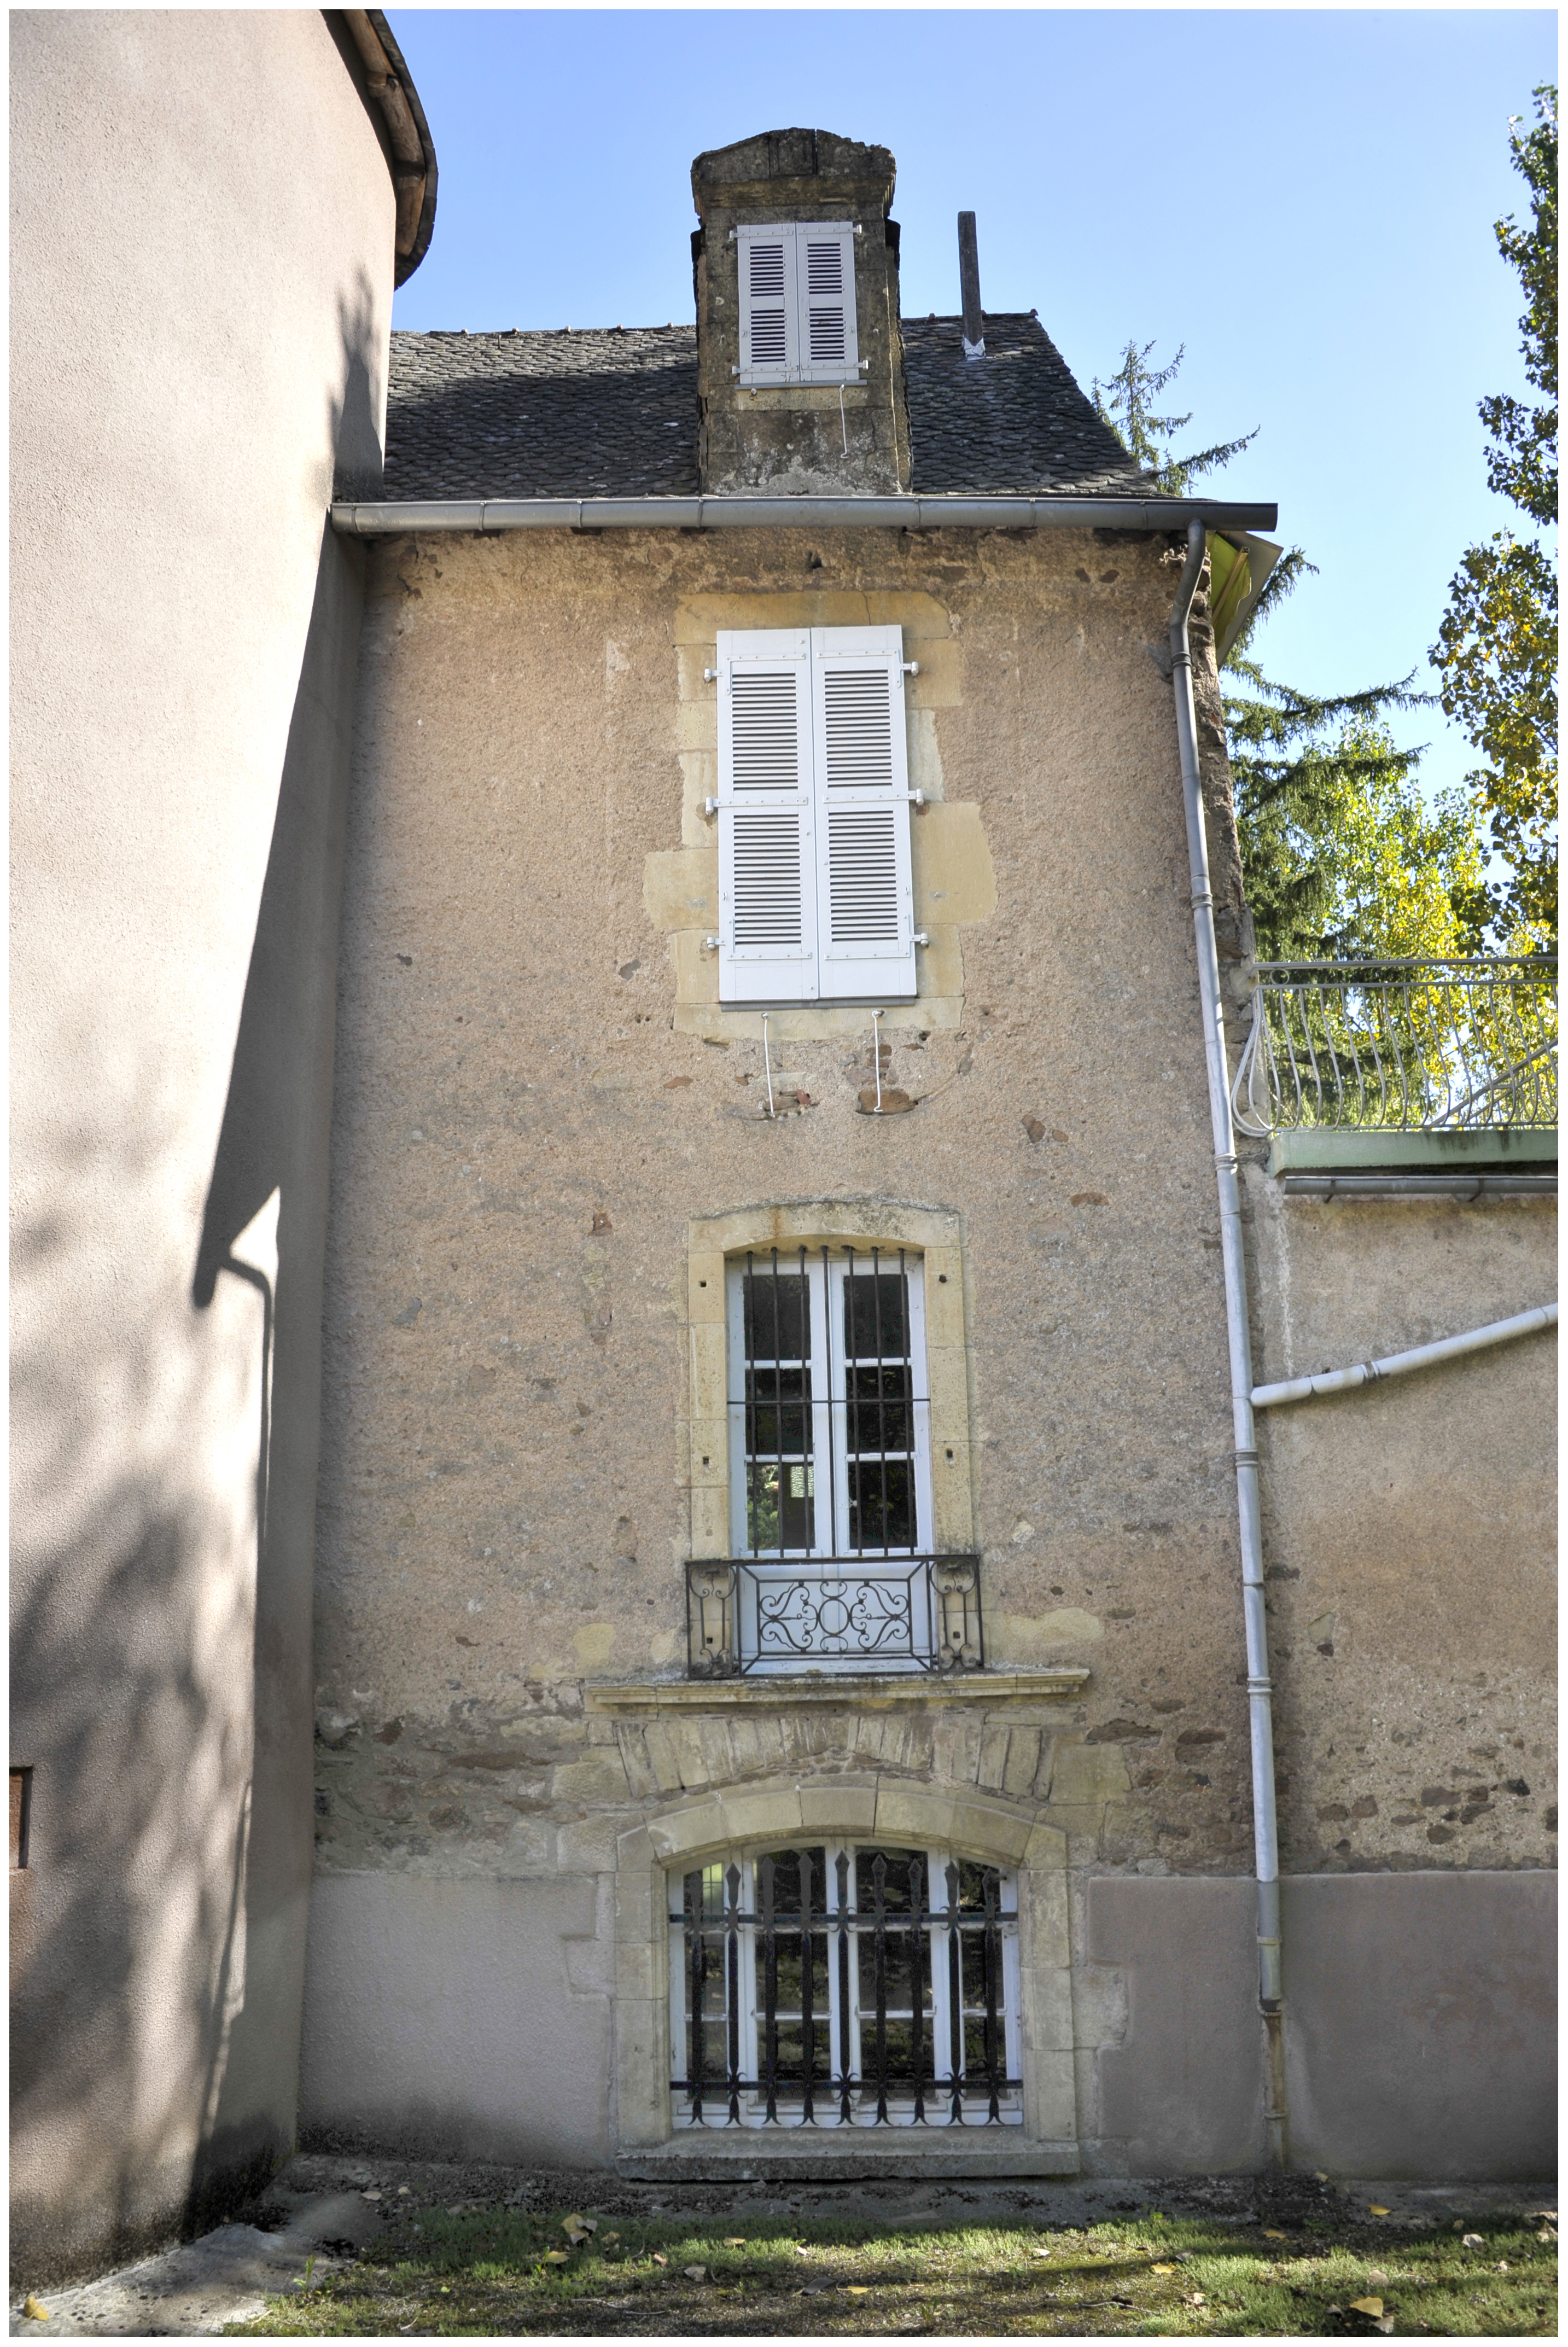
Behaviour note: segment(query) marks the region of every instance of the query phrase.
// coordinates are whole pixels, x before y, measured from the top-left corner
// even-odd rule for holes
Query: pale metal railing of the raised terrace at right
[[[1237,1129],[1556,1124],[1556,955],[1258,962]]]

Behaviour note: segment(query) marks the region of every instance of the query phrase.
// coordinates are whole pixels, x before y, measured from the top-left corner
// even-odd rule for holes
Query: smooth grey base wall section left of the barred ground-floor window
[[[610,1995],[594,1880],[326,1875],[310,1903],[300,2143],[601,2166]],[[573,1946],[575,1943],[575,1946]]]

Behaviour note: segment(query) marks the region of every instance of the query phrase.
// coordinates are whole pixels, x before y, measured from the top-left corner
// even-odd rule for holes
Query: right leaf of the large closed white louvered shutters
[[[812,629],[822,1000],[915,993],[904,634]]]

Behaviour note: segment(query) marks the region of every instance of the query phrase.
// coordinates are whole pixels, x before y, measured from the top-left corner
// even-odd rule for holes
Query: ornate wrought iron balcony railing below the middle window
[[[979,1671],[976,1556],[728,1556],[685,1568],[692,1678]]]

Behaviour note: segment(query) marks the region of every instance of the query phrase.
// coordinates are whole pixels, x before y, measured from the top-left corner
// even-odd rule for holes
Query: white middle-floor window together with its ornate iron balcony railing
[[[979,1669],[979,1561],[930,1540],[920,1256],[751,1251],[725,1307],[732,1556],[688,1568],[692,1671]]]

